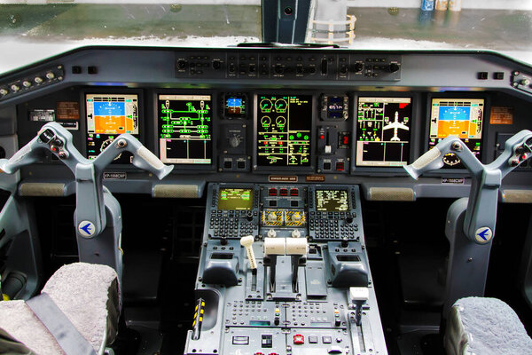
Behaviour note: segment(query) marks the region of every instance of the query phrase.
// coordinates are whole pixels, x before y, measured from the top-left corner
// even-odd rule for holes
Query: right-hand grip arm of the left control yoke
[[[121,134],[113,140],[113,144],[106,147],[106,149],[98,155],[94,160],[94,165],[99,172],[113,160],[120,155],[124,150],[133,154],[133,165],[142,170],[153,173],[159,179],[166,177],[174,166],[164,165],[160,159],[155,156],[150,150],[143,146],[137,138],[128,133]]]

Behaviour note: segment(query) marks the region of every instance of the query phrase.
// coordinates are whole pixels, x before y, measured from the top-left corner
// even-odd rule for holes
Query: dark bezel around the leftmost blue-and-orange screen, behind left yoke
[[[83,157],[87,158],[87,137],[89,133],[87,132],[87,94],[90,95],[137,95],[137,104],[138,104],[138,135],[137,139],[145,145],[145,95],[142,89],[129,89],[129,88],[116,88],[108,86],[98,86],[94,88],[87,88],[80,91],[80,105],[81,117],[80,117],[80,130],[82,130],[82,150],[80,153],[83,154]],[[150,147],[147,147],[148,149]],[[131,167],[137,169],[130,163],[112,163],[110,168],[117,167]]]

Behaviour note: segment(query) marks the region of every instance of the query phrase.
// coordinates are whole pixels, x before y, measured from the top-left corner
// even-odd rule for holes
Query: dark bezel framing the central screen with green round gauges
[[[257,163],[257,132],[258,132],[258,97],[261,95],[286,95],[286,96],[309,96],[311,98],[311,122],[310,122],[310,165],[309,166],[259,166]],[[270,172],[310,172],[316,170],[316,120],[317,120],[317,95],[313,91],[260,91],[254,92],[253,99],[253,172],[270,173]]]

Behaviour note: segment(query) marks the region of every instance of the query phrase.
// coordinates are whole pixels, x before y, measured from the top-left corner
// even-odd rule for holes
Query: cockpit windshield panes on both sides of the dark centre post
[[[139,2],[0,0],[0,43],[7,49],[0,73],[85,45],[225,47],[262,41],[260,0]],[[434,9],[426,11],[426,3]],[[493,50],[532,64],[532,2],[449,2],[460,4],[458,11],[450,4],[438,10],[434,3],[316,0],[306,42],[331,43],[329,37],[336,37],[340,46],[363,50]]]

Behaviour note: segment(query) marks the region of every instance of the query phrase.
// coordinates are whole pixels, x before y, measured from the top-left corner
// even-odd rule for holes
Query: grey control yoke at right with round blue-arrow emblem
[[[505,143],[503,154],[488,165],[482,164],[459,138],[450,136],[404,166],[411,177],[442,168],[445,154],[457,154],[471,172],[472,184],[465,212],[464,233],[472,241],[486,244],[495,234],[498,189],[503,178],[532,155],[532,132],[521,130]]]

